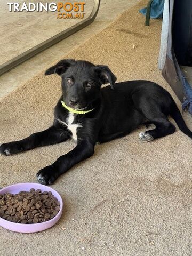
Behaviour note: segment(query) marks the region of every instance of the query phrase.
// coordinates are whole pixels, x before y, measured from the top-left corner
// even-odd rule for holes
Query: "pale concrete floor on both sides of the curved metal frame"
[[[23,1],[17,2],[23,3]],[[25,2],[27,3],[33,1]],[[86,3],[86,10],[89,14],[92,10],[93,0],[84,2]],[[116,17],[118,17],[119,14],[137,2],[139,2],[139,0],[122,0],[121,2],[116,0],[102,0],[98,16],[91,25],[64,39],[58,44],[53,45],[49,49],[37,54],[35,57],[25,61],[18,67],[15,67],[14,69],[0,76],[0,100],[6,94],[9,94],[13,90],[17,89],[18,86],[34,77],[37,73],[39,73],[39,71],[48,68],[54,61],[59,60],[75,47],[81,45],[91,36],[98,33],[98,31],[107,27],[111,22],[114,21]],[[1,0],[0,7],[0,55],[3,56],[1,63],[15,57],[15,55],[21,53],[22,50],[27,50],[30,47],[33,47],[35,44],[43,42],[45,39],[59,33],[66,27],[73,25],[72,23],[74,22],[73,20],[69,19],[64,21],[58,20],[54,17],[54,15],[56,15],[55,13],[42,14],[37,12],[12,12],[10,15],[10,13],[7,14],[8,6],[7,1],[5,0]],[[47,21],[49,22],[48,25]],[[60,26],[58,26],[57,22],[59,22]],[[37,30],[40,30],[41,33],[39,33]],[[31,35],[33,35],[33,37],[31,37]],[[94,53],[91,52],[90,54]]]

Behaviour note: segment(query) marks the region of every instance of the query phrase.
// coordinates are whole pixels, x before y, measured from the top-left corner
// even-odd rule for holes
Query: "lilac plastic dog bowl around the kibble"
[[[15,232],[21,232],[21,233],[34,233],[38,231],[45,230],[47,228],[51,228],[55,223],[58,222],[58,220],[61,218],[62,210],[63,210],[63,202],[62,198],[55,191],[54,189],[47,187],[45,185],[41,185],[38,183],[20,183],[20,184],[15,184],[11,185],[9,187],[3,188],[0,190],[0,194],[5,194],[7,192],[12,193],[12,194],[18,194],[19,191],[24,190],[24,191],[29,191],[31,188],[36,189],[41,189],[43,191],[51,191],[52,194],[57,197],[58,201],[60,202],[60,211],[58,214],[51,220],[42,222],[42,223],[35,223],[35,224],[22,224],[22,223],[15,223],[11,221],[4,220],[0,218],[0,226],[3,228],[15,231]]]

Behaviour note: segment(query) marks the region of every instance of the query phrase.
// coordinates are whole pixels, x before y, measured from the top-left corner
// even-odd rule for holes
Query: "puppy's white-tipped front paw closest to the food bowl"
[[[57,167],[49,165],[37,172],[37,180],[43,185],[51,185],[59,177],[59,171]]]

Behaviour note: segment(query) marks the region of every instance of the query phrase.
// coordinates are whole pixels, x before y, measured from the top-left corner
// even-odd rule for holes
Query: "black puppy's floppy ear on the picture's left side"
[[[73,59],[68,59],[68,60],[60,60],[56,65],[48,68],[45,71],[45,76],[51,75],[51,74],[58,74],[62,75],[65,73],[67,68],[74,62],[75,60]]]

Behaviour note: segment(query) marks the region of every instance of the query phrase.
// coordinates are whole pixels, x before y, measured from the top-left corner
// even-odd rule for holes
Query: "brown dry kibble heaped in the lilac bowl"
[[[13,195],[0,195],[0,217],[17,223],[41,223],[54,218],[60,210],[60,202],[51,191],[41,189],[20,191]]]

